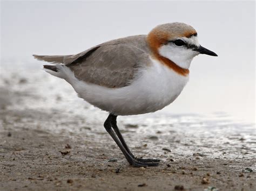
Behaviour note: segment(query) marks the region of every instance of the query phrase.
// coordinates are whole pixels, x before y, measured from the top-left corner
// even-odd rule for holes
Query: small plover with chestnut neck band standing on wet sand
[[[50,62],[45,72],[70,83],[86,102],[109,112],[104,128],[134,167],[158,166],[158,159],[135,157],[117,126],[117,116],[155,112],[185,87],[194,56],[218,56],[199,44],[185,23],[166,23],[148,34],[119,38],[73,55],[33,55]]]

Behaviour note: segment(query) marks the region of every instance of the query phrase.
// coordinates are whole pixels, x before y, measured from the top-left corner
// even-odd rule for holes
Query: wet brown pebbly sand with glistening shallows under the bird
[[[0,92],[0,190],[256,189],[255,126],[225,113],[118,117],[134,155],[161,159],[134,168],[62,80],[11,73]]]

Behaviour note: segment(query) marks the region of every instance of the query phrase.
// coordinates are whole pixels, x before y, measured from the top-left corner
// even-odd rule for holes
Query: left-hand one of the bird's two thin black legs
[[[116,142],[116,144],[119,146],[120,150],[123,152],[123,154],[125,155],[125,158],[127,159],[127,161],[129,162],[130,165],[134,166],[134,167],[143,167],[143,166],[157,166],[158,163],[147,163],[147,162],[140,162],[136,159],[134,159],[124,148],[124,146],[122,145],[122,143],[118,140],[117,136],[114,134],[114,131],[112,130],[112,126],[111,126],[111,121],[112,121],[112,117],[113,115],[110,114],[109,117],[107,117],[105,123],[104,123],[104,128],[106,129],[106,131],[109,133],[109,135],[112,137],[112,139],[114,140],[114,142]]]

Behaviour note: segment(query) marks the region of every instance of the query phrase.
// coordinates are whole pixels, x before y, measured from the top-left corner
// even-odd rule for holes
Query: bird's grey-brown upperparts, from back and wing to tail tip
[[[139,35],[107,41],[75,55],[35,58],[63,63],[87,83],[119,88],[129,85],[140,65],[150,63],[149,54],[146,35]]]

